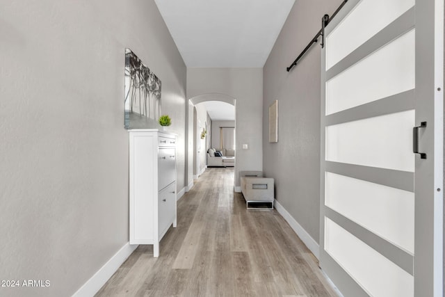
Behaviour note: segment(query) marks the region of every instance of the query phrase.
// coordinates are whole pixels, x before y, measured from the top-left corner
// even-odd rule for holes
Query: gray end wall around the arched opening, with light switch
[[[261,68],[188,68],[187,97],[218,93],[236,99],[236,147],[248,143],[250,150],[237,150],[235,185],[239,172],[263,169],[262,110],[263,70]],[[253,149],[254,148],[254,149]]]

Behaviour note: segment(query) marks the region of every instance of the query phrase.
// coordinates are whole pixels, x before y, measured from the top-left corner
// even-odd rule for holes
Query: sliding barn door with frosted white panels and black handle
[[[326,28],[320,266],[344,296],[442,296],[443,56],[444,0],[350,0]]]

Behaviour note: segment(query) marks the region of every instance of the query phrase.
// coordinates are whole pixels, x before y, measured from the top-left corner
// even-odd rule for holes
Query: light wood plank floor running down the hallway
[[[207,168],[159,258],[139,246],[96,296],[337,296],[282,216],[246,210],[233,181],[233,168]]]

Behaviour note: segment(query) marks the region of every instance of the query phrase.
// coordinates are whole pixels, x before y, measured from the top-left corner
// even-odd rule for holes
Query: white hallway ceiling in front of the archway
[[[187,67],[263,67],[295,0],[155,0]]]

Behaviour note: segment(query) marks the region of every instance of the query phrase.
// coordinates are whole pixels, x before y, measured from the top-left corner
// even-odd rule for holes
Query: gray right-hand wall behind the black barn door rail
[[[320,214],[321,47],[288,67],[341,0],[296,1],[264,65],[263,163],[275,198],[315,241]],[[268,107],[278,100],[278,143],[268,142]]]

